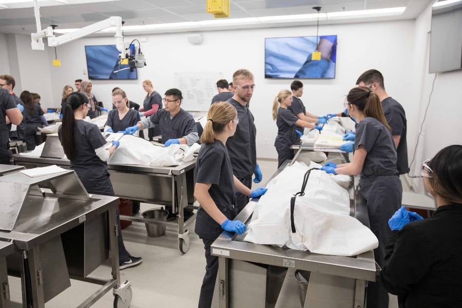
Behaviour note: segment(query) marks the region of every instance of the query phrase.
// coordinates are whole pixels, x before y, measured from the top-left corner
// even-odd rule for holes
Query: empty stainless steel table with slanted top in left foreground
[[[91,306],[111,289],[114,307],[129,306],[131,284],[121,283],[119,272],[119,198],[88,195],[71,170],[33,178],[16,172],[0,177],[0,189],[9,192],[0,200],[0,239],[14,244],[14,252],[6,253],[7,267],[21,277],[23,307],[45,307],[70,286],[70,278],[103,285],[79,307]],[[89,277],[109,256],[112,278]],[[0,265],[5,291],[5,263]],[[4,296],[0,307],[8,304]]]

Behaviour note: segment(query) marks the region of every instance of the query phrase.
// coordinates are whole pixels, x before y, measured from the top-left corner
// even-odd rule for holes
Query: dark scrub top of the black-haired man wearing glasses
[[[191,132],[197,132],[194,117],[183,109],[180,109],[180,112],[171,118],[170,112],[162,108],[152,114],[150,120],[153,124],[160,126],[162,143],[169,139],[183,138]]]

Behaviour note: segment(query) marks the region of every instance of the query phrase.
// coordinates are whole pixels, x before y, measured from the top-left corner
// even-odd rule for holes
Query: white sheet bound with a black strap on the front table
[[[300,190],[305,172],[314,167],[320,165],[311,163],[307,167],[296,162],[268,183],[268,191],[260,198],[247,226],[245,241],[340,256],[353,256],[373,249],[374,245],[377,247],[374,234],[349,216],[349,194],[335,183],[334,178],[338,176],[320,170],[311,172],[305,195],[296,199],[297,233],[292,236],[290,201]],[[329,229],[324,231],[325,236],[331,239],[319,241],[320,235],[312,229],[325,228]],[[341,239],[342,244],[337,244],[335,239]]]

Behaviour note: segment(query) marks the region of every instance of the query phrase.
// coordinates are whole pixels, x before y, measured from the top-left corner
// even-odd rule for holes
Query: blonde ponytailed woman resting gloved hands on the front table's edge
[[[196,218],[196,234],[204,242],[205,276],[202,281],[199,307],[209,308],[214,295],[218,273],[218,257],[210,255],[210,245],[220,236],[223,229],[242,234],[246,226],[236,217],[236,190],[251,198],[265,194],[265,188],[251,191],[234,175],[226,149],[226,141],[234,136],[239,123],[233,105],[218,102],[210,106],[207,124],[204,127],[202,147],[197,158],[197,181],[194,197],[200,207]]]

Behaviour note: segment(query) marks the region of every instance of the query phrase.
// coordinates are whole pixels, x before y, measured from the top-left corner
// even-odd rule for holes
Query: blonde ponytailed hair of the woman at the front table
[[[207,113],[207,123],[202,132],[201,142],[210,144],[215,142],[217,133],[223,131],[225,126],[237,118],[237,111],[233,105],[225,102],[217,102],[210,106]]]

